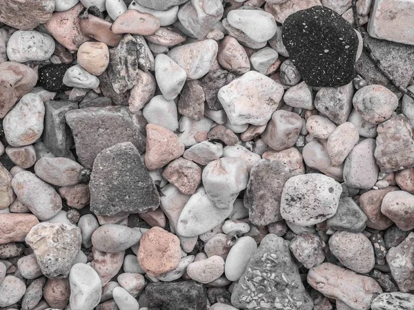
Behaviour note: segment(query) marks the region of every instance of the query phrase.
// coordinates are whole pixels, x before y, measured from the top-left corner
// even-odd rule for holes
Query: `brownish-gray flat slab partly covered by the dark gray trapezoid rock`
[[[75,138],[79,162],[92,168],[99,152],[117,143],[130,142],[139,153],[145,152],[144,117],[132,114],[127,107],[86,107],[66,113]]]

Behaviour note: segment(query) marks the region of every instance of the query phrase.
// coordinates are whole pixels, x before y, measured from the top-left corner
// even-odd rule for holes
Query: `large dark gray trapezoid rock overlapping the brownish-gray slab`
[[[97,155],[89,189],[90,211],[101,216],[145,212],[159,206],[157,188],[130,142],[118,143]]]

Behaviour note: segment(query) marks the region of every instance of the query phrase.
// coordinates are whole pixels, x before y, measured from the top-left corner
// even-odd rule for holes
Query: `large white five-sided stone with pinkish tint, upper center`
[[[233,125],[265,125],[279,107],[283,87],[272,79],[250,71],[221,87],[218,98]]]

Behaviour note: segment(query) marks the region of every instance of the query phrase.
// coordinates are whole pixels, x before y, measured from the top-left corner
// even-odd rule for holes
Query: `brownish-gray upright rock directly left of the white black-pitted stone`
[[[254,225],[269,225],[282,220],[280,198],[283,186],[291,176],[296,176],[279,161],[261,159],[250,171],[244,205],[248,207],[249,220]]]

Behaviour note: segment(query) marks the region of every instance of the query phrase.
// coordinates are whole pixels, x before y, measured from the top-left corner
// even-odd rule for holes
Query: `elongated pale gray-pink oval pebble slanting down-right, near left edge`
[[[17,198],[39,218],[48,220],[59,213],[62,202],[59,194],[32,172],[20,172],[12,180]]]

